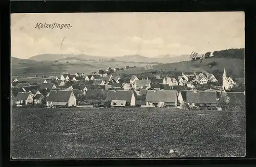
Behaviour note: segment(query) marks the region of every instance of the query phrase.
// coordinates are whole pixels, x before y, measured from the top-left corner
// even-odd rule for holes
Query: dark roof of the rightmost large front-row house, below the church
[[[180,91],[187,103],[217,103],[216,91]]]

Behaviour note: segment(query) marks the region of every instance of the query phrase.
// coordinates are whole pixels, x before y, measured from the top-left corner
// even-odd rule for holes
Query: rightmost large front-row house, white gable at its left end
[[[181,90],[178,95],[178,101],[180,104],[186,101],[189,106],[198,104],[200,106],[214,107],[217,105],[217,92]]]

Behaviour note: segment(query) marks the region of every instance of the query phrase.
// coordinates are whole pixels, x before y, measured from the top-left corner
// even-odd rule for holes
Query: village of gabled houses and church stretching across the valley
[[[181,72],[177,77],[153,72],[124,77],[116,74],[119,69],[109,67],[89,75],[12,77],[12,106],[244,110],[245,92],[232,91],[244,85],[227,76],[225,68],[221,82],[200,71]]]

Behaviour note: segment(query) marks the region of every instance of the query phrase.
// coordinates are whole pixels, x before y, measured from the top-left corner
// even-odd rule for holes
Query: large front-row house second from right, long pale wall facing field
[[[148,107],[177,107],[177,91],[147,90],[146,106]]]

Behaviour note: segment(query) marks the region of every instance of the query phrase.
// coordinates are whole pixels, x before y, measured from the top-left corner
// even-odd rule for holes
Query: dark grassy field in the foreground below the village
[[[228,156],[245,156],[245,113],[12,109],[13,158]]]

